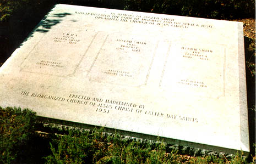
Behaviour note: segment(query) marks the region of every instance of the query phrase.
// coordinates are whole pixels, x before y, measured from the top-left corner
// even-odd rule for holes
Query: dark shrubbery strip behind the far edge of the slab
[[[56,3],[89,6],[94,4],[97,5],[97,7],[106,7],[106,4],[98,1],[1,0],[0,22],[6,21],[13,13],[24,13],[24,10],[28,10],[28,8],[35,9],[36,11],[36,9],[40,9],[40,7],[42,7],[42,4]],[[118,3],[118,1],[116,1],[116,3]],[[123,0],[123,3],[124,9],[142,12],[216,19],[255,18],[254,0]],[[120,5],[122,5],[122,3]],[[116,4],[116,6],[120,5]]]

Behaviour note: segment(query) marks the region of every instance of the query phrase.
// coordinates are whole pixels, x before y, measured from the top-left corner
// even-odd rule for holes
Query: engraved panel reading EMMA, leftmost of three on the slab
[[[72,75],[95,35],[96,32],[84,29],[50,30],[31,50],[21,65],[21,71],[56,76]]]

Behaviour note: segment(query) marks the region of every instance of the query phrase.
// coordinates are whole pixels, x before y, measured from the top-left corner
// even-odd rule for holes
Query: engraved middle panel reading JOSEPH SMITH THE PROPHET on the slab
[[[156,41],[148,37],[112,33],[106,38],[88,76],[91,81],[103,83],[146,84],[156,45]]]

